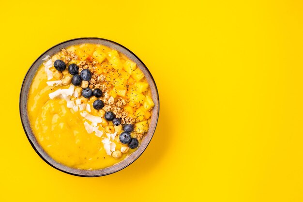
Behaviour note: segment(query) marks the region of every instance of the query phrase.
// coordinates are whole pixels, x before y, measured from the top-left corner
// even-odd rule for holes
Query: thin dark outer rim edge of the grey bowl
[[[157,117],[156,117],[156,121],[155,121],[155,127],[153,128],[153,131],[152,131],[152,136],[151,136],[151,139],[148,141],[146,147],[143,149],[143,151],[136,157],[134,158],[133,161],[131,161],[129,164],[121,167],[120,169],[116,170],[116,171],[112,171],[112,172],[108,172],[106,174],[97,174],[97,175],[81,175],[81,174],[76,174],[76,173],[72,173],[72,172],[68,172],[68,171],[64,171],[60,168],[57,168],[56,166],[54,166],[53,164],[51,164],[50,162],[48,162],[43,155],[41,155],[38,150],[36,149],[36,147],[34,146],[33,142],[30,140],[30,137],[26,131],[26,128],[25,128],[25,125],[23,124],[23,119],[22,119],[22,114],[21,114],[21,95],[22,95],[22,90],[23,90],[23,86],[24,86],[24,81],[25,81],[25,78],[28,76],[29,72],[30,72],[30,69],[32,68],[33,64],[35,62],[37,62],[47,51],[49,51],[50,49],[54,48],[54,47],[57,47],[57,46],[60,46],[61,44],[63,43],[66,43],[66,42],[71,42],[71,41],[76,41],[76,40],[83,40],[83,39],[96,39],[96,40],[104,40],[104,41],[108,41],[108,42],[111,42],[113,44],[116,44],[124,49],[126,49],[128,52],[130,52],[132,55],[134,55],[136,57],[137,60],[139,60],[143,67],[147,70],[147,72],[150,74],[150,77],[152,78],[152,82],[154,83],[155,85],[155,91],[157,93],[157,101],[158,101],[158,111],[157,111]],[[30,68],[28,69],[28,71],[26,72],[24,78],[23,78],[23,81],[22,81],[22,85],[21,85],[21,90],[20,90],[20,96],[19,96],[19,114],[20,114],[20,119],[21,119],[21,123],[22,123],[22,127],[23,127],[23,130],[26,134],[26,137],[27,139],[29,140],[30,142],[30,145],[31,147],[34,149],[34,151],[40,156],[40,158],[42,158],[48,165],[50,165],[51,167],[55,168],[56,170],[58,171],[61,171],[61,172],[64,172],[64,173],[67,173],[67,174],[70,174],[70,175],[74,175],[74,176],[78,176],[78,177],[101,177],[101,176],[106,176],[106,175],[109,175],[109,174],[113,174],[115,172],[118,172],[118,171],[121,171],[122,169],[128,167],[129,165],[131,165],[132,163],[134,163],[136,161],[136,159],[138,159],[142,154],[143,152],[146,150],[146,148],[148,147],[148,145],[150,144],[150,142],[152,141],[152,137],[154,135],[154,132],[156,130],[156,127],[157,127],[157,124],[158,124],[158,120],[159,120],[159,113],[160,113],[160,99],[159,99],[159,92],[158,92],[158,88],[157,88],[157,85],[156,85],[156,82],[154,80],[154,78],[152,77],[152,73],[150,72],[150,70],[147,68],[147,66],[144,64],[144,62],[141,61],[141,59],[136,56],[136,54],[134,52],[132,52],[130,49],[128,49],[127,47],[124,47],[123,45],[115,42],[115,41],[112,41],[112,40],[109,40],[109,39],[105,39],[105,38],[99,38],[99,37],[79,37],[79,38],[73,38],[73,39],[69,39],[69,40],[66,40],[66,41],[63,41],[59,44],[56,44],[50,48],[48,48],[47,50],[45,50],[40,56],[38,56],[38,58],[32,62],[32,64],[30,65]],[[123,159],[124,160],[124,159]],[[123,161],[122,160],[122,161]],[[102,170],[102,169],[100,169]]]

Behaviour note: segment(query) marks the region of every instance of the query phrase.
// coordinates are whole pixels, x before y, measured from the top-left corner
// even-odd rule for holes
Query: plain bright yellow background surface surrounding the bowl
[[[302,11],[300,0],[1,0],[0,201],[302,202]],[[40,159],[18,109],[31,63],[89,36],[131,49],[161,104],[143,155],[98,178]]]

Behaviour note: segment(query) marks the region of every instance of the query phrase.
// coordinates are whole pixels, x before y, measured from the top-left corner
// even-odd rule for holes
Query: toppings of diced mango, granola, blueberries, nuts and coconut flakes
[[[134,152],[148,132],[154,107],[136,63],[95,44],[67,47],[43,60],[50,100],[65,100],[66,108],[79,115],[78,124],[99,138],[107,155],[119,159]]]

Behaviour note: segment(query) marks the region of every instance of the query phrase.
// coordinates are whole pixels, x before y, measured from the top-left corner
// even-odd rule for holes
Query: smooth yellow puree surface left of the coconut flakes
[[[106,168],[127,156],[115,159],[107,155],[101,139],[86,131],[79,112],[68,109],[63,99],[49,99],[50,92],[64,87],[50,87],[46,81],[42,65],[30,87],[28,115],[32,131],[48,155],[61,164],[85,170]],[[121,145],[113,142],[120,150]]]

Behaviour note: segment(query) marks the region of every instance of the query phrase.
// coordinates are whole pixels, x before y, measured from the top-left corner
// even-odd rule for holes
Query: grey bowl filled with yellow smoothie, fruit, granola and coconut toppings
[[[27,72],[20,116],[37,154],[77,176],[119,171],[148,146],[159,115],[151,73],[127,48],[101,38],[51,47]]]

